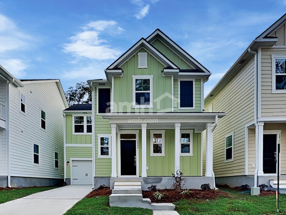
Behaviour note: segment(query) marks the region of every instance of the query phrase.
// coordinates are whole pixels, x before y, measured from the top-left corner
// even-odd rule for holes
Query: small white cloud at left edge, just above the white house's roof
[[[0,59],[1,65],[16,78],[23,78],[26,75],[24,70],[27,64],[21,59]]]

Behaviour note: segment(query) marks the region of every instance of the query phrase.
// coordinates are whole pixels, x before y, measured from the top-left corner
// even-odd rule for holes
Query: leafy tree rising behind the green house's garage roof
[[[91,87],[88,83],[77,83],[75,87],[69,87],[65,94],[69,106],[91,103]]]

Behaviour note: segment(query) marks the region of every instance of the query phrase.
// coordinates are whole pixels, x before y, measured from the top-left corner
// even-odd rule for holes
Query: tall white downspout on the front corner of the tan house
[[[254,187],[257,187],[258,175],[258,125],[257,125],[257,53],[250,48],[248,52],[254,54],[254,125],[255,125],[255,172],[254,172]]]

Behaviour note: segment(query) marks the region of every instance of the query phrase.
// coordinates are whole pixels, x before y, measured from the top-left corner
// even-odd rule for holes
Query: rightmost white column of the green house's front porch
[[[212,177],[213,167],[213,136],[212,123],[206,123],[206,177]]]

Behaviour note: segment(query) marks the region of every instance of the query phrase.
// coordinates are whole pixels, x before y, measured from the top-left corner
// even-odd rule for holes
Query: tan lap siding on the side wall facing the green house
[[[226,112],[213,134],[213,170],[215,176],[245,174],[245,124],[254,121],[254,57],[206,104],[213,112]],[[225,137],[234,132],[234,161],[225,162]],[[205,135],[205,132],[203,133]],[[205,137],[204,145],[205,148]],[[205,149],[204,149],[205,151]],[[205,162],[205,153],[203,153]],[[205,164],[203,165],[205,168]],[[205,170],[204,170],[205,172]]]

